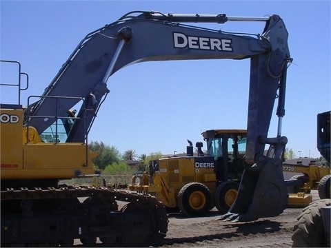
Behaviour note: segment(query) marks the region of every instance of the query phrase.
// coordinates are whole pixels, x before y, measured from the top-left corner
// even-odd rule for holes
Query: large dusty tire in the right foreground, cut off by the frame
[[[316,200],[303,209],[294,225],[292,247],[326,247],[321,207],[330,205],[330,199]]]

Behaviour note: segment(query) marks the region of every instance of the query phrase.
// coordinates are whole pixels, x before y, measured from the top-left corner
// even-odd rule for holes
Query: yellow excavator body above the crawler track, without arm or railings
[[[44,143],[33,127],[22,132],[23,109],[1,109],[1,120],[1,180],[94,174],[92,158],[98,152],[87,150],[86,144]]]

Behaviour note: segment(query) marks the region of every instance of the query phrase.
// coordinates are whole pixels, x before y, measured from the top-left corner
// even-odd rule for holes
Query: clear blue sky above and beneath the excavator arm
[[[40,95],[86,34],[132,10],[165,14],[265,17],[279,14],[289,32],[283,136],[299,156],[319,157],[316,116],[330,110],[330,1],[0,1],[1,59],[19,61]],[[197,24],[197,25],[203,25]],[[263,23],[228,22],[208,27],[261,33]],[[142,49],[142,48],[138,48]],[[245,129],[250,61],[158,61],[130,65],[108,80],[110,94],[89,141],[123,153],[185,152],[186,139],[202,141],[210,129]],[[1,70],[1,80],[5,70]],[[1,103],[17,96],[1,91]],[[14,99],[14,100],[13,100]],[[269,136],[277,134],[275,113]],[[301,152],[299,152],[301,151]]]

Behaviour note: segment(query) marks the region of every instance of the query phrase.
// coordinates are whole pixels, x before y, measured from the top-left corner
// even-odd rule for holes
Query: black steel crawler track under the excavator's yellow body
[[[126,202],[119,209],[117,201]],[[165,207],[153,196],[106,187],[1,190],[1,247],[158,245],[168,231]]]

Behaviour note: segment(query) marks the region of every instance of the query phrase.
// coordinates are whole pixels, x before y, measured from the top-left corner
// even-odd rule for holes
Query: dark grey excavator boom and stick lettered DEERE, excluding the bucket
[[[131,14],[131,13],[130,13]],[[208,17],[219,23],[224,14]],[[253,163],[255,154],[263,154],[264,144],[259,136],[267,136],[274,99],[277,97],[280,77],[285,74],[290,54],[288,32],[280,17],[273,15],[265,21],[263,34],[255,37],[236,35],[219,30],[195,28],[182,23],[159,21],[163,15],[143,12],[137,17],[122,17],[119,21],[88,34],[72,55],[43,96],[86,97],[87,123],[77,121],[70,131],[68,142],[81,142],[85,137],[83,125],[88,127],[101,103],[109,92],[106,81],[117,70],[142,61],[188,59],[248,59],[250,69],[250,103],[248,110],[248,137],[250,150],[246,160]],[[176,17],[176,16],[175,16]],[[202,18],[203,16],[200,16]],[[177,17],[179,18],[179,17]],[[192,17],[181,16],[182,21],[192,22]],[[202,19],[204,20],[204,19]],[[199,19],[197,18],[197,21]],[[243,18],[243,21],[246,21]],[[84,87],[81,87],[84,85]],[[263,92],[263,94],[258,94]],[[32,108],[32,115],[49,112],[52,99],[43,99]],[[64,114],[76,102],[68,99],[57,112]],[[40,121],[34,118],[29,125],[39,133],[53,123],[53,119]],[[261,144],[261,145],[260,145]]]

